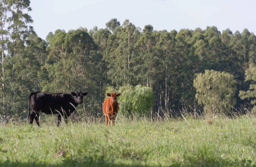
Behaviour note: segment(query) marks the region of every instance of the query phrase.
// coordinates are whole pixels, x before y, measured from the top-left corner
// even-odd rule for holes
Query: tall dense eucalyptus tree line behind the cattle
[[[183,109],[199,113],[204,103],[196,96],[200,92],[194,80],[206,70],[232,76],[225,82],[234,87],[226,93],[234,98],[233,108],[255,97],[255,73],[250,71],[255,71],[256,36],[247,29],[154,31],[152,25],[142,29],[112,19],[106,28],[58,29],[44,40],[31,26],[31,10],[29,0],[0,0],[2,115],[24,115],[31,92],[80,90],[89,92],[81,112],[96,115],[102,112],[107,87],[136,85],[152,88],[152,115]],[[207,87],[201,83],[199,87]]]

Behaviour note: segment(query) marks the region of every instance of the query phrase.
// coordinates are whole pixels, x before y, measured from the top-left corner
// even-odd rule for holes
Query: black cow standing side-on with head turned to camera
[[[50,92],[32,92],[29,94],[29,123],[32,124],[34,119],[39,126],[39,111],[46,114],[59,114],[58,124],[60,125],[61,117],[67,118],[76,110],[76,106],[83,103],[83,96],[88,92],[72,92],[70,93],[50,93]],[[30,113],[30,107],[32,113]]]

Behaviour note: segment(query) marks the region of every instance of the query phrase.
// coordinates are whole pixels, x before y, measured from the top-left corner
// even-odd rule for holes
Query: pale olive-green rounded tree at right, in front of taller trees
[[[206,113],[228,114],[236,104],[236,79],[226,72],[206,70],[194,79],[195,98]]]

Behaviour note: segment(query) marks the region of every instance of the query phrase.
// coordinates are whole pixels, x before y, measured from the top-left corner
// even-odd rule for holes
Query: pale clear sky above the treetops
[[[32,26],[39,37],[63,29],[94,26],[106,28],[116,18],[128,19],[136,27],[152,25],[160,31],[181,28],[206,29],[215,25],[219,31],[230,28],[240,33],[247,28],[256,33],[256,0],[30,0]]]

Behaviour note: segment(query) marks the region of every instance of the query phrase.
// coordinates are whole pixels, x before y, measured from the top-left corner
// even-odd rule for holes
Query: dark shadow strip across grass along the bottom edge
[[[111,161],[111,160],[110,160]],[[125,164],[123,162],[114,163],[106,162],[103,159],[92,159],[84,158],[83,161],[76,161],[73,159],[67,159],[61,161],[59,164],[49,164],[49,163],[37,163],[37,162],[0,162],[0,167],[256,167],[252,164],[250,160],[235,160],[231,161],[229,159],[211,159],[211,160],[185,160],[183,162],[172,161],[171,164],[166,165],[146,165],[141,164],[140,161],[132,161],[130,164]]]

